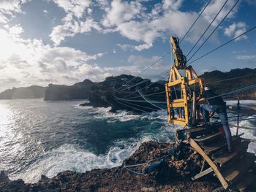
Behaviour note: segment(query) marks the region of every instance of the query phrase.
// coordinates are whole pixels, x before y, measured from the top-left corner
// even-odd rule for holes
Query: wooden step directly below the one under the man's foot
[[[233,166],[221,171],[221,173],[225,180],[234,183],[239,177],[246,174],[253,164],[255,164],[255,154],[246,152]]]

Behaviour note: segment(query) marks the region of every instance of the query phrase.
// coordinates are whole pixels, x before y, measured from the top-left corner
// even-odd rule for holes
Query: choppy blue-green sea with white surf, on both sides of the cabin
[[[36,183],[72,170],[86,172],[119,166],[142,142],[169,142],[180,126],[167,123],[167,112],[131,115],[110,108],[79,107],[80,101],[16,99],[0,101],[0,170],[10,179]],[[236,101],[228,101],[236,104]],[[256,101],[241,101],[241,107]],[[233,114],[229,114],[233,117]],[[245,115],[252,118],[255,115]],[[230,118],[236,119],[236,118]],[[236,122],[230,122],[236,133]],[[256,139],[256,120],[242,120],[243,137]],[[249,151],[256,152],[250,144]]]

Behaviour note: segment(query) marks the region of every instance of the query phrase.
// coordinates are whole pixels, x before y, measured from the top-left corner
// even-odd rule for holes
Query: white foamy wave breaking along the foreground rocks
[[[132,139],[132,141],[131,141]],[[104,169],[121,166],[124,159],[129,158],[141,143],[151,140],[148,137],[141,139],[131,138],[130,141],[118,140],[110,147],[105,155],[95,155],[76,145],[65,144],[57,149],[48,151],[37,158],[29,168],[18,174],[10,174],[10,179],[22,179],[25,183],[37,183],[44,174],[54,177],[59,172],[67,170],[74,172],[86,172],[91,169]]]

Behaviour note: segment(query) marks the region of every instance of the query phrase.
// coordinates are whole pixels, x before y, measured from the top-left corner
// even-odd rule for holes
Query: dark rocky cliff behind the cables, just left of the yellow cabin
[[[143,81],[142,84],[132,86],[141,81]],[[103,82],[96,82],[91,87],[90,103],[81,104],[81,106],[112,107],[112,112],[116,112],[116,110],[129,110],[135,113],[151,112],[159,110],[159,107],[162,105],[165,106],[165,104],[160,103],[155,105],[148,103],[140,96],[136,88],[143,88],[143,95],[151,94],[150,100],[165,101],[165,93],[155,94],[165,90],[163,83],[152,83],[151,80],[142,79],[141,77],[121,74],[116,77],[107,77]],[[131,97],[132,100],[129,99]]]

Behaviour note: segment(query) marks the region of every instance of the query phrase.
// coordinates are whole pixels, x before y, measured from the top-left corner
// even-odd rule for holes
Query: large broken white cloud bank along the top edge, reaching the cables
[[[92,29],[95,29],[103,34],[118,32],[123,37],[139,43],[139,45],[131,45],[131,47],[123,45],[121,46],[123,50],[142,51],[151,48],[157,38],[170,36],[170,34],[182,37],[198,15],[197,12],[181,12],[179,9],[182,7],[183,0],[162,0],[160,3],[153,4],[152,7],[143,6],[143,1],[139,0],[97,0],[93,3],[90,3],[90,1],[82,2],[82,0],[53,1],[67,12],[61,25],[54,27],[50,34],[50,38],[55,45],[59,45],[66,37],[89,33]],[[81,4],[80,9],[75,9],[75,7],[79,7],[79,4]],[[208,26],[208,23],[211,22],[217,11],[222,7],[222,4],[222,0],[211,1],[203,13],[203,17],[197,21],[188,34],[187,41],[197,41],[201,34],[200,28]],[[235,0],[227,1],[225,9],[222,10],[217,18],[217,22],[224,18],[233,4],[235,4]],[[104,11],[100,23],[91,18],[95,6]],[[233,17],[237,7],[230,13],[228,18]],[[217,23],[214,24],[216,25]],[[209,31],[211,31],[211,28]],[[211,40],[214,42],[219,41],[218,31],[212,35]]]

